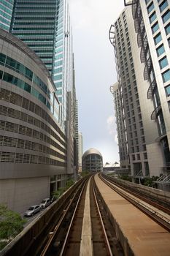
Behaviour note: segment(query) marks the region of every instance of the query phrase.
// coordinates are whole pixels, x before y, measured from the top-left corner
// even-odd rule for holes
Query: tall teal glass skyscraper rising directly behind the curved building
[[[65,127],[66,92],[72,91],[72,29],[66,0],[15,0],[10,32],[39,56],[55,83],[58,121]]]

